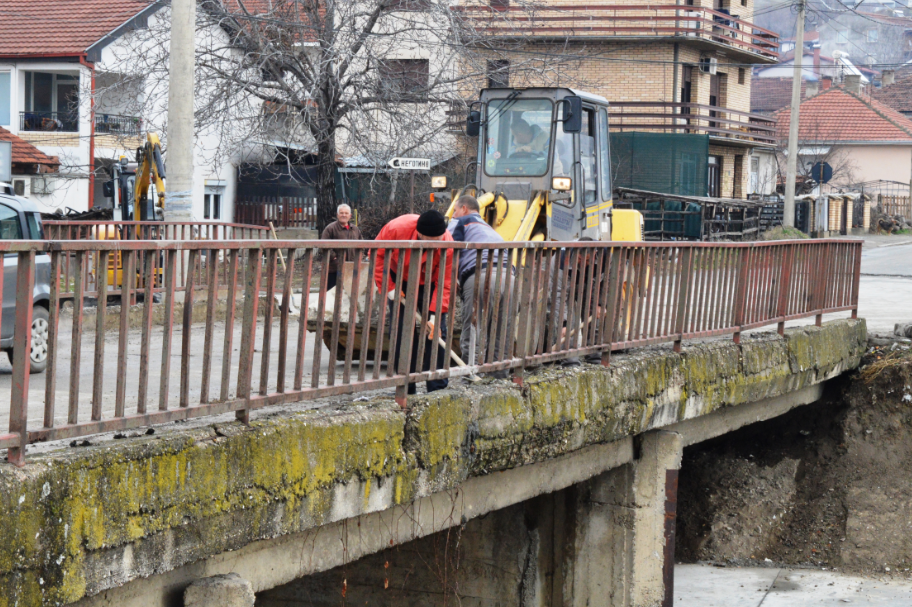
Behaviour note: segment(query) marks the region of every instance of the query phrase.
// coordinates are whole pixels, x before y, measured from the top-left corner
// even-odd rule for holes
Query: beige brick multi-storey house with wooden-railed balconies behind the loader
[[[775,33],[751,23],[753,7],[754,0],[648,6],[498,0],[461,10],[486,44],[503,49],[506,59],[492,62],[489,84],[570,86],[601,95],[612,107],[612,133],[708,138],[707,157],[699,159],[707,191],[688,193],[743,198],[757,187],[755,151],[776,144],[774,122],[750,111],[751,67],[776,63],[779,47]],[[543,69],[536,82],[528,71],[522,78],[509,73],[510,53],[516,61],[558,54],[565,61]]]

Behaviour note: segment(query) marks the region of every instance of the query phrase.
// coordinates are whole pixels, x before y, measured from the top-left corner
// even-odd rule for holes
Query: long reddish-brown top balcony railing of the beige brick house
[[[779,36],[729,14],[702,6],[542,4],[455,7],[481,36],[638,38],[680,37],[721,44],[778,59]]]

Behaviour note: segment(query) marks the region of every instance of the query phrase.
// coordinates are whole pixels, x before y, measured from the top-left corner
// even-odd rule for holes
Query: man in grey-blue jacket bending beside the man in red
[[[453,240],[457,242],[484,242],[500,243],[504,239],[494,231],[481,217],[481,207],[474,196],[461,196],[456,200],[456,208],[453,211],[453,221],[450,222],[449,230],[453,234]],[[504,329],[504,323],[510,319],[505,305],[505,294],[508,293],[512,284],[512,267],[509,265],[510,256],[501,255],[502,250],[483,250],[481,253],[481,266],[478,264],[478,255],[474,250],[463,251],[459,255],[459,293],[462,301],[462,334],[459,338],[459,347],[462,350],[462,359],[466,364],[475,364],[472,358],[473,349],[478,352],[476,359],[479,363],[484,362],[484,352],[478,351],[481,344],[478,343],[477,327],[481,324],[485,335],[489,335],[492,329],[490,320],[479,323],[479,319],[473,322],[473,312],[475,305],[475,293],[478,289],[482,291],[482,301],[484,301],[484,290],[487,286],[487,268],[488,263],[497,264],[502,261],[503,269],[500,270],[501,280],[497,284],[498,268],[495,266],[491,269],[491,295],[488,309],[493,312],[494,306],[497,306],[497,319],[493,327],[494,330],[494,358],[500,360],[504,356],[503,340],[501,335],[506,334],[512,343],[512,337]],[[495,303],[497,302],[497,303]],[[476,313],[477,314],[477,313]],[[474,341],[474,344],[473,344]],[[474,348],[473,348],[474,346]],[[487,345],[490,348],[490,344]],[[505,378],[508,376],[507,371],[498,371],[495,377]]]

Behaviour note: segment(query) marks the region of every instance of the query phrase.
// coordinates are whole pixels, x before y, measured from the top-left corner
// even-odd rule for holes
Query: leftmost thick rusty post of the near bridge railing
[[[32,345],[32,293],[35,289],[35,251],[18,255],[16,268],[16,327],[13,333],[13,391],[10,398],[10,434],[19,435],[19,446],[10,447],[6,458],[25,465],[28,444],[28,384]]]

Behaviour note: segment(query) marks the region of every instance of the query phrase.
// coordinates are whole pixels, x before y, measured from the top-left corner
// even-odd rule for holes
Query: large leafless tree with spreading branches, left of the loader
[[[267,161],[278,150],[288,163],[306,155],[317,166],[320,226],[335,212],[340,153],[375,167],[396,155],[453,157],[464,143],[447,132],[447,112],[464,109],[489,77],[571,85],[573,70],[561,66],[579,61],[517,52],[526,44],[519,37],[493,41],[485,23],[444,0],[200,0],[199,6],[197,145],[214,155]],[[97,91],[110,96],[141,83],[145,94],[132,95],[137,112],[162,132],[167,10],[113,52],[108,86]],[[309,153],[292,157],[290,150]]]

